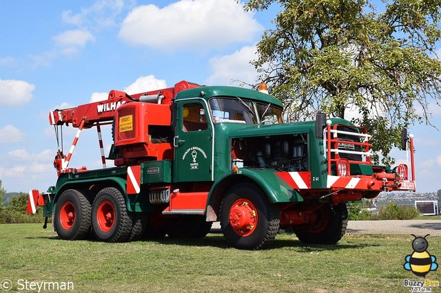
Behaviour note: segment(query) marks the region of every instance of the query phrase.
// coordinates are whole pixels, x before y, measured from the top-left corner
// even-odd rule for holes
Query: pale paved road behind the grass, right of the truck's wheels
[[[219,222],[213,224],[212,232],[220,232]],[[403,221],[349,221],[347,233],[365,234],[407,234],[441,236],[441,220],[403,220]]]

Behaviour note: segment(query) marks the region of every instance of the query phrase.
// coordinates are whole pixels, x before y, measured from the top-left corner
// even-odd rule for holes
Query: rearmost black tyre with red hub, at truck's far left
[[[61,193],[55,207],[54,228],[61,239],[87,239],[90,235],[92,207],[88,199],[75,189]]]

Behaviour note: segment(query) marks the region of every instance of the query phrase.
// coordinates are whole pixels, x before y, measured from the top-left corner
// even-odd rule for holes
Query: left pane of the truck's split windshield
[[[209,100],[214,123],[257,124],[254,105],[242,98],[212,98]]]

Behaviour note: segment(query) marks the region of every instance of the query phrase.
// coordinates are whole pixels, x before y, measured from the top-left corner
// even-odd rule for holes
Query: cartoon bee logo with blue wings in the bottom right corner
[[[427,248],[429,247],[429,242],[427,242],[426,237],[416,237],[416,235],[411,234],[415,239],[412,241],[413,253],[407,255],[404,259],[406,262],[403,264],[404,270],[410,270],[416,276],[426,277],[427,273],[431,270],[438,269],[438,263],[435,263],[436,257],[429,254]]]

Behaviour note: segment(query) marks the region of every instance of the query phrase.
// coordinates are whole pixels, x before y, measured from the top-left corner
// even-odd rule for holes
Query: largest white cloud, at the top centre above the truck
[[[164,8],[138,6],[123,21],[119,36],[132,45],[174,51],[205,50],[252,41],[263,27],[231,0],[181,0]]]

